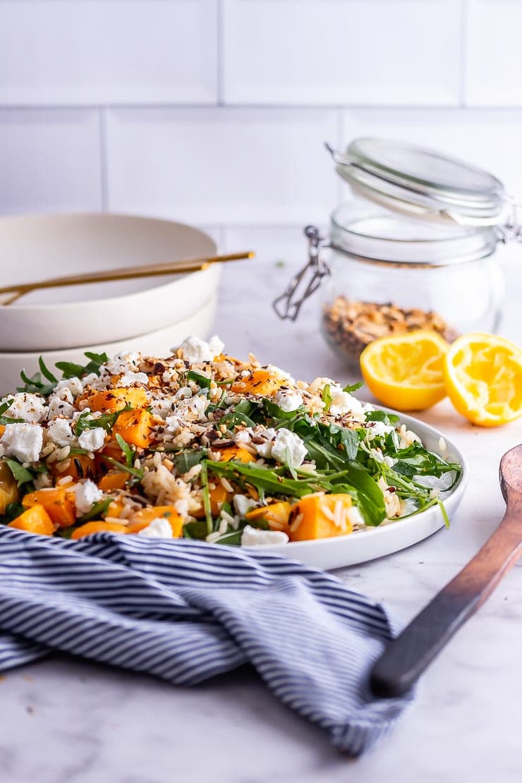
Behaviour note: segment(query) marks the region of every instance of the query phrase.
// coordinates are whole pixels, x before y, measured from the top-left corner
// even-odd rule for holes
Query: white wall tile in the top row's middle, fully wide
[[[459,103],[459,0],[224,0],[227,103]]]

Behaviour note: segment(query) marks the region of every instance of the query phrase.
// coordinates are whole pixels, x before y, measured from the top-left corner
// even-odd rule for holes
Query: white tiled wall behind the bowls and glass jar
[[[284,248],[342,197],[322,143],[372,134],[522,193],[520,31],[520,0],[0,0],[0,213]]]

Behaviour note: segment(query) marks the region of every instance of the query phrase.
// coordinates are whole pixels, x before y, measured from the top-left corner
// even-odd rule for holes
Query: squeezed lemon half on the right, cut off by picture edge
[[[445,383],[455,408],[473,424],[497,427],[522,415],[522,350],[495,334],[464,334],[450,346]]]

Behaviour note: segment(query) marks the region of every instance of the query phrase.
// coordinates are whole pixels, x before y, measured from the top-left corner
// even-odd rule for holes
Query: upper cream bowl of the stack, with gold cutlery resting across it
[[[203,231],[129,215],[0,219],[0,269],[9,284],[214,255]],[[0,350],[47,351],[115,342],[182,321],[214,296],[218,265],[200,272],[35,291],[0,306]]]

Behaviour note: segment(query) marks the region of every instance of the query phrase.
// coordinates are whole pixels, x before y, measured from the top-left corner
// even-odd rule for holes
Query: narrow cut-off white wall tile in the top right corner
[[[468,0],[466,103],[520,106],[522,2]]]

